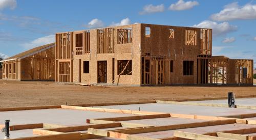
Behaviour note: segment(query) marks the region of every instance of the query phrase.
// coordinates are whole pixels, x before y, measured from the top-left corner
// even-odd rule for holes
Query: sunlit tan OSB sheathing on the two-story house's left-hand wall
[[[132,27],[133,40],[129,44],[117,44],[117,29]],[[79,33],[76,31],[74,33]],[[127,26],[114,27],[114,53],[97,54],[97,30],[90,31],[90,54],[74,55],[73,81],[79,81],[79,69],[81,70],[81,82],[83,83],[97,83],[97,61],[107,62],[107,80],[106,83],[113,81],[113,66],[112,59],[115,59],[115,83],[118,81],[117,61],[118,60],[132,60],[132,75],[120,75],[119,83],[127,85],[140,85],[140,24],[133,24]],[[74,38],[75,40],[75,38]],[[75,47],[75,45],[73,45]],[[75,48],[74,48],[75,50]],[[79,59],[81,59],[81,67],[79,68]],[[89,62],[89,74],[83,73],[83,61]]]

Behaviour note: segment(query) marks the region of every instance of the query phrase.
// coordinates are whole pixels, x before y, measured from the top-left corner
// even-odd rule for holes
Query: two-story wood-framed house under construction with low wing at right
[[[57,82],[252,85],[253,60],[212,56],[212,30],[131,24],[56,34]]]

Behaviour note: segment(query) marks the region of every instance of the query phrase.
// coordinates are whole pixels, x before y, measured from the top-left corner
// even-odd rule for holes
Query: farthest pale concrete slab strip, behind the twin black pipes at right
[[[227,104],[227,99],[225,99],[225,100],[189,101],[189,102]],[[236,104],[244,105],[244,106],[256,106],[256,98],[237,98]]]

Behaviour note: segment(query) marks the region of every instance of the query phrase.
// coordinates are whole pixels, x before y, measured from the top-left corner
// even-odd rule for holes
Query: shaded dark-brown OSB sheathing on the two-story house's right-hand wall
[[[145,36],[145,27],[150,27],[150,37]],[[174,29],[174,39],[169,38],[169,29]],[[185,31],[197,31],[197,45],[185,45]],[[141,54],[165,56],[173,60],[172,84],[197,82],[197,56],[200,54],[200,29],[167,25],[141,24]],[[183,75],[183,61],[194,61],[193,75]]]

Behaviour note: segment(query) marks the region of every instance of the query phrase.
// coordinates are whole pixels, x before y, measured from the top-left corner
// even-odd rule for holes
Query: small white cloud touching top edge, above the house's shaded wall
[[[181,11],[191,9],[197,5],[199,5],[197,1],[184,2],[183,0],[179,0],[176,4],[170,5],[168,9],[173,11]]]

